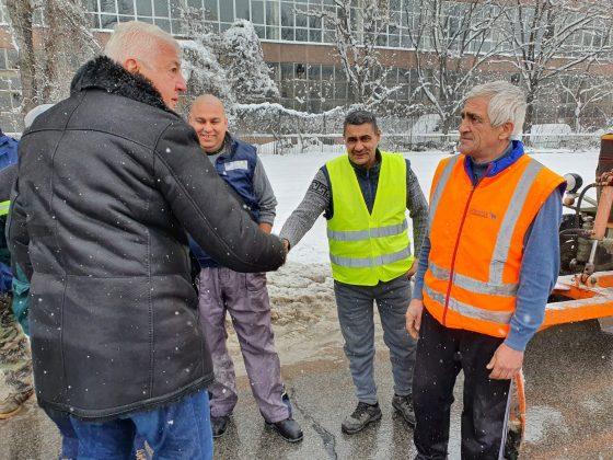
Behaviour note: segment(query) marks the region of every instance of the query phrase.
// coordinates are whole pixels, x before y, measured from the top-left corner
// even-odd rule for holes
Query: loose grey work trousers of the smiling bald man
[[[275,350],[270,300],[265,273],[238,273],[225,267],[200,271],[200,324],[212,356],[215,382],[209,387],[211,416],[229,415],[236,405],[234,364],[225,341],[225,312],[232,324],[253,395],[267,422],[289,417],[282,402],[281,366]]]

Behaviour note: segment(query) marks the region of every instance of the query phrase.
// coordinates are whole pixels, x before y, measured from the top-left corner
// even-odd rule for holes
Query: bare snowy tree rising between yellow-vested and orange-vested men
[[[491,0],[414,0],[405,2],[405,13],[418,76],[413,96],[425,96],[447,134],[481,69],[500,49],[493,31],[501,9]]]

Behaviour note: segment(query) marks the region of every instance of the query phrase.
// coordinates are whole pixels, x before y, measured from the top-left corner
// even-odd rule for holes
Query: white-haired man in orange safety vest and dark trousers
[[[460,154],[435,173],[406,313],[407,331],[419,337],[417,459],[448,456],[460,370],[462,458],[501,458],[510,379],[555,286],[565,182],[513,140],[525,108],[522,91],[508,82],[475,87],[462,111]]]

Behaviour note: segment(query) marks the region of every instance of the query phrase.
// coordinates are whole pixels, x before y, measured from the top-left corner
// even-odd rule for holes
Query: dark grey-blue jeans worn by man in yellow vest
[[[377,302],[383,342],[390,348],[394,392],[406,396],[413,392],[413,368],[416,344],[405,329],[406,309],[410,301],[410,284],[406,276],[379,283],[377,286],[356,286],[334,281],[340,332],[345,338],[345,355],[358,401],[377,403],[374,383],[374,319]]]

